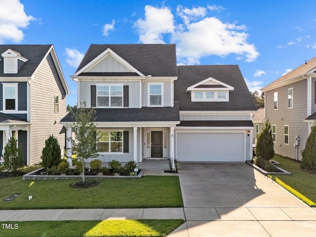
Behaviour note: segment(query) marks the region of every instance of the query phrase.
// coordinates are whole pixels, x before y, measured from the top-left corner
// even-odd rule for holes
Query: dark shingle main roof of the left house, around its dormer
[[[0,77],[31,77],[40,62],[48,52],[52,44],[3,44],[0,45]],[[6,50],[12,49],[28,59],[18,70],[17,74],[3,74],[3,58],[1,56]]]

